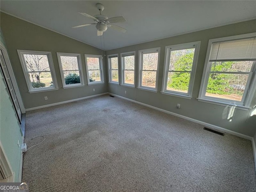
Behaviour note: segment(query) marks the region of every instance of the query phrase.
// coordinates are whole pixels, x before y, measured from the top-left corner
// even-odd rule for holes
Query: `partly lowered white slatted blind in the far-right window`
[[[212,43],[210,62],[226,60],[256,60],[256,37]]]

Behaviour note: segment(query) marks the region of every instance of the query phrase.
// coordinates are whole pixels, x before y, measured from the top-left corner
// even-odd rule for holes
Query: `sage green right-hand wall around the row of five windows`
[[[205,102],[198,102],[196,99],[199,94],[200,83],[204,68],[204,61],[206,57],[206,50],[208,46],[208,40],[213,38],[220,38],[225,36],[233,36],[238,34],[246,34],[256,32],[256,20],[250,20],[246,22],[240,22],[236,24],[230,24],[217,28],[211,28],[208,30],[202,30],[198,32],[192,32],[184,35],[174,36],[161,40],[151,41],[147,43],[137,44],[133,46],[127,46],[118,48],[115,50],[108,50],[106,54],[119,54],[119,67],[120,67],[120,53],[136,51],[136,87],[138,85],[138,50],[160,47],[160,67],[158,76],[158,92],[150,92],[146,90],[139,90],[137,88],[128,88],[116,84],[109,84],[108,92],[123,96],[138,102],[142,102],[151,106],[155,106],[176,114],[181,114],[196,120],[207,122],[222,128],[226,128],[241,134],[248,136],[254,136],[256,131],[256,116],[250,116],[251,110],[239,110],[236,109],[232,122],[227,120],[227,115],[230,108],[215,104],[209,104]],[[192,99],[184,99],[175,96],[169,96],[161,94],[162,78],[164,70],[164,52],[165,46],[182,44],[187,42],[201,41],[199,58],[196,68],[196,78],[194,81]],[[120,76],[120,74],[119,74]],[[127,94],[124,94],[124,91]],[[180,103],[181,108],[176,109],[176,104]],[[256,94],[252,101],[252,106],[256,104]]]

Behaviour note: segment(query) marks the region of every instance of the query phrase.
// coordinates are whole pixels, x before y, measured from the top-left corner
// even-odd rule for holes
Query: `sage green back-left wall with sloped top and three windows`
[[[87,85],[84,59],[84,54],[102,55],[102,53],[104,54],[104,51],[2,12],[0,12],[0,25],[25,108],[32,108],[108,92],[107,83],[91,86]],[[86,33],[84,35],[86,35]],[[17,49],[50,51],[52,53],[59,90],[28,93]],[[81,54],[85,86],[67,89],[62,88],[56,52]],[[103,66],[104,81],[107,82],[105,60],[103,60]],[[95,88],[95,92],[93,92],[93,88]],[[44,96],[48,96],[48,100],[44,100]]]

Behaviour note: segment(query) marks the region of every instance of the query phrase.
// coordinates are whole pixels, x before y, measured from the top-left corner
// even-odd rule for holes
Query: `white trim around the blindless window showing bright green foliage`
[[[192,91],[193,91],[194,80],[196,76],[196,66],[198,62],[200,43],[201,43],[200,41],[196,41],[196,42],[189,42],[189,43],[177,44],[177,45],[171,45],[171,46],[165,47],[164,74],[163,74],[163,84],[162,84],[162,92],[161,92],[162,94],[169,94],[172,96],[178,96],[178,97],[187,98],[187,99],[192,98]],[[192,70],[190,74],[188,93],[167,90],[166,88],[167,88],[168,72],[169,72],[169,65],[170,65],[170,53],[175,50],[190,49],[190,48],[195,48],[195,51],[194,51]]]

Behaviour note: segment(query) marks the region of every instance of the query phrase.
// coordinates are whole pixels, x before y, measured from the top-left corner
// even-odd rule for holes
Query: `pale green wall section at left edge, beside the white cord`
[[[14,172],[14,182],[18,182],[22,132],[2,72],[0,72],[0,141]]]

